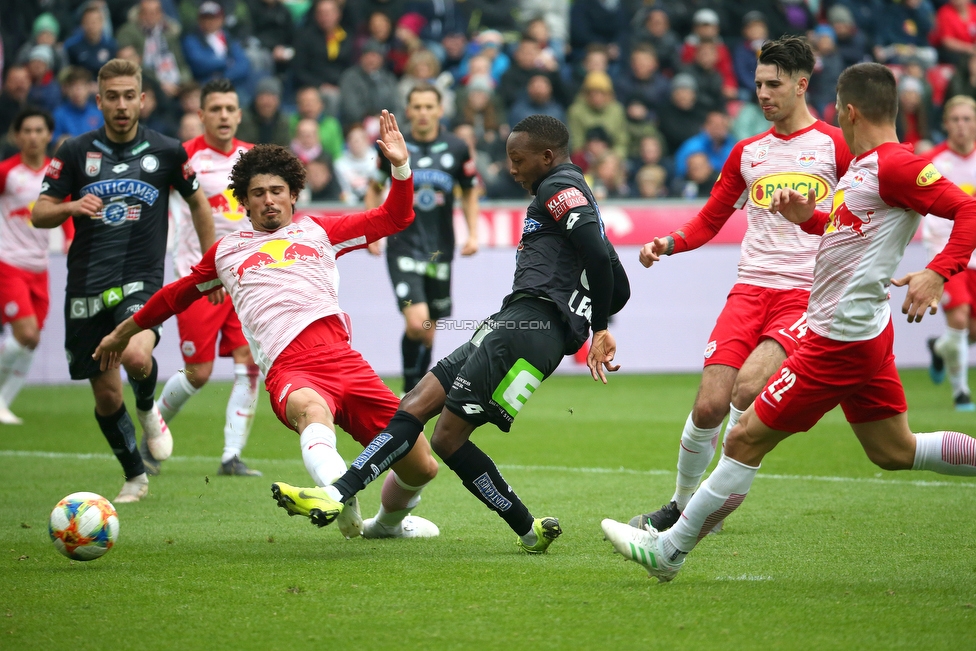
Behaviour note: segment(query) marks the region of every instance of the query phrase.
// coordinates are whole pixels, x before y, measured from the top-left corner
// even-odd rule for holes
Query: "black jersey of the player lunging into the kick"
[[[568,355],[579,350],[589,338],[592,300],[583,259],[570,242],[570,233],[583,224],[598,224],[614,267],[620,267],[620,259],[607,240],[600,208],[580,168],[571,163],[554,167],[538,182],[535,195],[525,213],[512,294],[505,299],[505,304],[519,294],[555,302],[570,326],[566,340]]]

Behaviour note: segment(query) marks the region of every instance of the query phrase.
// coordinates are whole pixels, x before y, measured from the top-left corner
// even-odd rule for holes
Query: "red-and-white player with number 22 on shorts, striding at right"
[[[812,190],[774,194],[772,210],[821,236],[809,332],[729,432],[718,466],[671,529],[603,521],[614,548],[651,576],[673,579],[711,526],[746,498],[766,454],[838,404],[881,468],[976,477],[976,439],[909,428],[888,305],[889,286],[907,285],[902,312],[909,322],[926,310],[936,313],[946,280],[966,268],[976,248],[976,200],[898,143],[897,113],[891,71],[877,63],[851,66],[837,82],[837,114],[856,157],[837,184],[830,213],[816,210]],[[924,214],[954,220],[949,241],[925,269],[892,280]]]

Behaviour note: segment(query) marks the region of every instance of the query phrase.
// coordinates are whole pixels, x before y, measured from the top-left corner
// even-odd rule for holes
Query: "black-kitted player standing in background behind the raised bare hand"
[[[415,218],[405,230],[387,239],[386,262],[397,306],[406,330],[400,342],[403,391],[413,389],[430,368],[437,320],[451,316],[451,260],[454,258],[454,186],[461,187],[461,208],[468,240],[461,255],[478,251],[478,195],[471,150],[439,125],[444,107],[436,86],[418,84],[407,96],[410,131],[404,134],[413,169]],[[377,147],[377,151],[379,148]],[[366,208],[381,203],[390,177],[390,161],[377,155],[382,183],[370,184]],[[379,254],[379,243],[369,250]]]

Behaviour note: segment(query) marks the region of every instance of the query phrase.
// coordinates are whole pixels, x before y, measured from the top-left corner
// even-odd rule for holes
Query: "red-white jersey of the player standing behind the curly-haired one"
[[[216,238],[237,232],[242,228],[250,228],[251,222],[247,212],[241,206],[234,193],[227,189],[230,184],[230,171],[234,164],[254,145],[235,139],[233,149],[229,154],[218,151],[207,144],[203,136],[197,136],[183,143],[188,157],[187,164],[196,172],[197,181],[207,195],[214,217]],[[200,251],[200,238],[193,228],[193,218],[190,206],[180,196],[173,192],[170,196],[170,206],[176,221],[176,249],[173,251],[173,266],[180,278],[190,273],[190,267],[203,257]]]

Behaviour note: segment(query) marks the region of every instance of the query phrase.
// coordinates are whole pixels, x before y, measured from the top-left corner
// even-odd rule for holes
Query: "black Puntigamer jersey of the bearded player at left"
[[[136,281],[162,287],[170,188],[189,197],[198,187],[180,142],[152,129],[139,126],[127,143],[109,140],[105,127],[66,140],[41,194],[57,200],[94,194],[103,204],[91,217],[73,218],[68,295]]]

